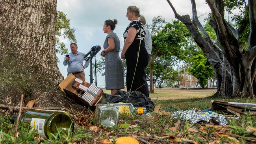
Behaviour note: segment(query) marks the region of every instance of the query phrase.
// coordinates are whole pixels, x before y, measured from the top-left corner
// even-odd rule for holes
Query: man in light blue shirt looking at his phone
[[[83,57],[84,53],[78,52],[77,44],[70,44],[71,52],[65,56],[63,61],[63,65],[68,65],[67,72],[69,74],[73,74],[76,78],[85,81],[85,73],[84,69],[87,68],[90,64],[90,61],[85,61]],[[85,61],[85,65],[83,65],[83,61]]]

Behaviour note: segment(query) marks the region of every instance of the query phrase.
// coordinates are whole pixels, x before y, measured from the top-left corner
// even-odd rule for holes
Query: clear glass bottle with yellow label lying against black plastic
[[[137,114],[145,114],[147,113],[146,107],[134,107],[132,103],[109,103],[109,105],[113,105],[119,109],[120,113],[134,113]]]

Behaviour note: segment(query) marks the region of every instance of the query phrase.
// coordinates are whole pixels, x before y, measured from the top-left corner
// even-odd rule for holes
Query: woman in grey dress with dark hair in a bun
[[[113,32],[116,24],[116,19],[105,20],[103,31],[108,35],[103,44],[104,50],[101,52],[101,55],[105,57],[106,90],[110,89],[112,95],[124,89],[124,70],[119,57],[120,41]]]

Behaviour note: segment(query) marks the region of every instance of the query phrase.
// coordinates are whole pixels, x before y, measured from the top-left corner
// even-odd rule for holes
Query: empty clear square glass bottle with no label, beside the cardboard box
[[[95,108],[94,122],[101,126],[113,127],[117,125],[119,110],[112,105],[99,103]]]

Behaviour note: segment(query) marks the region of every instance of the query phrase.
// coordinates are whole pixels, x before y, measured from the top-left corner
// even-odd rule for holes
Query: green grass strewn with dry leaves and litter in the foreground
[[[205,98],[188,98],[179,100],[154,100],[155,104],[161,104],[161,110],[167,108],[177,110],[187,110],[197,108],[200,110],[209,108],[211,106],[211,100],[220,100],[226,102],[245,102],[256,103],[256,100],[242,98],[242,99],[221,99],[214,96]],[[173,112],[171,111],[171,113]],[[219,114],[227,116],[233,116],[224,110],[217,111]],[[88,111],[89,113],[89,111]],[[151,117],[144,117],[138,114],[126,115],[121,114],[119,117],[119,123],[117,126],[99,127],[98,130],[93,131],[90,129],[92,126],[91,120],[88,120],[84,126],[75,126],[75,131],[72,135],[59,132],[53,135],[49,140],[44,140],[37,135],[36,131],[19,125],[19,135],[17,137],[17,143],[100,143],[101,140],[108,140],[108,142],[114,142],[119,137],[136,137],[140,143],[145,141],[152,143],[171,143],[171,142],[183,142],[186,140],[192,140],[197,143],[210,143],[210,142],[222,142],[222,143],[254,143],[251,137],[252,131],[247,131],[247,126],[256,127],[256,116],[241,115],[240,119],[230,119],[227,126],[208,126],[205,124],[189,124],[189,122],[181,120],[179,129],[175,131],[170,130],[170,127],[174,127],[176,119],[171,115],[161,115],[153,113]],[[88,116],[88,118],[91,118]],[[0,144],[2,143],[14,143],[15,141],[15,126],[9,121],[10,116],[0,117]],[[121,124],[135,125],[132,128],[120,128]],[[204,127],[204,131],[200,131]],[[189,129],[197,129],[198,133],[191,133]],[[225,135],[223,135],[225,134]],[[230,136],[239,135],[239,137]],[[185,140],[185,139],[186,140]],[[235,138],[235,139],[234,139]],[[255,138],[255,137],[254,137]],[[174,140],[174,141],[171,141]],[[185,140],[185,141],[184,141]]]

